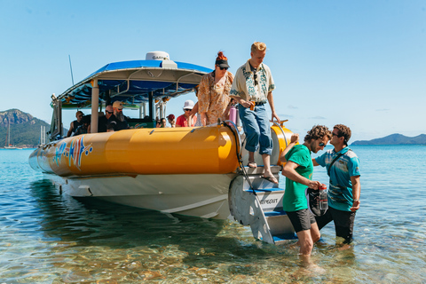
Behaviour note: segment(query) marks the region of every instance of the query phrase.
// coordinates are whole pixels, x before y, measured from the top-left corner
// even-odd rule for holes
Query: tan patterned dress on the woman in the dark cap
[[[198,113],[206,113],[207,125],[228,119],[230,101],[229,91],[233,85],[233,74],[226,72],[225,85],[215,83],[214,71],[203,75],[198,91]]]

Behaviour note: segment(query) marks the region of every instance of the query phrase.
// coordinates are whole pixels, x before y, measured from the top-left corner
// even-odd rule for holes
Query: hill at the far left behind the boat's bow
[[[11,144],[14,146],[36,147],[40,144],[40,129],[45,126],[50,129],[47,122],[43,122],[31,114],[13,108],[0,112],[0,147],[7,144],[7,124],[11,123]]]

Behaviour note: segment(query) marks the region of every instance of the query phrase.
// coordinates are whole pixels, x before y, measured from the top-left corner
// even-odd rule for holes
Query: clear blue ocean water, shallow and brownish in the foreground
[[[0,284],[426,283],[426,146],[351,148],[361,162],[354,243],[341,250],[327,225],[313,270],[295,241],[273,246],[230,221],[75,200],[29,167],[32,150],[0,150]],[[314,178],[327,184],[323,168]]]

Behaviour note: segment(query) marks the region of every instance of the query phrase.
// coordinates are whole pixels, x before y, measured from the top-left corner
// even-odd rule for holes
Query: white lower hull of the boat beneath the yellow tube
[[[236,174],[59,177],[63,193],[194,217],[230,217],[228,191]]]

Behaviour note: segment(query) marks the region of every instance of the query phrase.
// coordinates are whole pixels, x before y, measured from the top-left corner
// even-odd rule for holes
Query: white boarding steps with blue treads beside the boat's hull
[[[253,236],[272,244],[295,239],[296,234],[286,212],[282,209],[284,189],[262,178],[264,167],[245,167],[233,179],[229,190],[229,209],[241,225],[249,225]],[[271,167],[273,176],[279,180],[280,166]],[[250,180],[254,190],[247,181]]]

